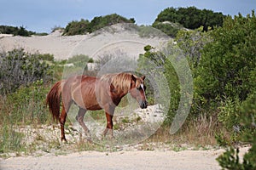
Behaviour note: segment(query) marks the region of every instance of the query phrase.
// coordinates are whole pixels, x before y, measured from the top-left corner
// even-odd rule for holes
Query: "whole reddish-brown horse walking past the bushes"
[[[75,76],[56,82],[47,94],[46,103],[49,105],[53,118],[61,123],[61,140],[66,141],[64,124],[67,112],[73,103],[79,106],[76,119],[83,127],[87,139],[90,140],[90,131],[84,124],[84,114],[86,111],[102,109],[107,117],[107,127],[103,135],[106,136],[110,131],[113,137],[113,112],[125,94],[130,93],[132,98],[137,99],[142,109],[147,108],[144,79],[145,76],[137,77],[131,73],[116,73],[102,77]]]

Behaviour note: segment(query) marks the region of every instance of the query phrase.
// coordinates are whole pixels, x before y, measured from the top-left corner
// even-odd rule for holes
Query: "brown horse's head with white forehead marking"
[[[145,94],[146,86],[144,85],[144,79],[145,76],[137,77],[135,75],[131,75],[131,88],[129,90],[131,97],[137,100],[142,109],[145,109],[148,106]]]

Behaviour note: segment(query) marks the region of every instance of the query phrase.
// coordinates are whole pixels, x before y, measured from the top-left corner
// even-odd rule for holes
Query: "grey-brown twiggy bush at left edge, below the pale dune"
[[[15,92],[37,80],[48,81],[51,71],[44,58],[51,60],[53,56],[29,54],[22,48],[0,53],[0,94]]]

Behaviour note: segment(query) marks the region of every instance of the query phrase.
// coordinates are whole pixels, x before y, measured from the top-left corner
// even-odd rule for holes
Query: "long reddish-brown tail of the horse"
[[[61,107],[61,84],[64,80],[56,82],[49,90],[46,97],[46,105],[49,105],[49,111],[52,114],[53,120],[58,121]]]

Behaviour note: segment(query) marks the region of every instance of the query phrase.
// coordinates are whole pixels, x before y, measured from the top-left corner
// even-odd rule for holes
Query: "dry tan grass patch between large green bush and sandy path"
[[[215,117],[201,115],[192,121],[185,122],[181,129],[171,135],[170,127],[160,127],[147,142],[165,142],[170,144],[189,144],[190,146],[217,145],[216,133],[220,131]]]

